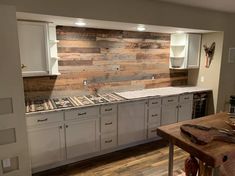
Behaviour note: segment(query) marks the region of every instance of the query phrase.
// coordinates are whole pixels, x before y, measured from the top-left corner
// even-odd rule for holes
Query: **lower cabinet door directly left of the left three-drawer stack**
[[[66,123],[67,158],[99,151],[99,119],[76,120]]]

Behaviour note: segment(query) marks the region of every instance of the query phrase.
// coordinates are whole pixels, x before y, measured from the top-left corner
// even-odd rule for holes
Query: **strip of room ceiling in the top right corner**
[[[235,0],[161,0],[161,1],[235,13]]]

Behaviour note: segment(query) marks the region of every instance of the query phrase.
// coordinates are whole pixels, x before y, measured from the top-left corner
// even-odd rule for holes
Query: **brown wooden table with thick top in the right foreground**
[[[169,170],[168,175],[173,176],[173,157],[174,157],[174,145],[182,148],[186,152],[195,156],[200,161],[206,163],[213,168],[212,174],[219,175],[218,168],[225,162],[234,158],[235,156],[235,144],[230,144],[221,141],[213,141],[207,145],[197,145],[181,133],[180,126],[182,124],[197,124],[208,127],[227,128],[231,129],[224,123],[224,120],[228,119],[226,113],[218,113],[202,117],[199,119],[188,120],[176,124],[162,126],[157,129],[157,133],[164,139],[169,141]]]

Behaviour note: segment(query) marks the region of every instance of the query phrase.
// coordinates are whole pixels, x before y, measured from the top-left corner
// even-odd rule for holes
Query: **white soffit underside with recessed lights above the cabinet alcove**
[[[78,18],[69,18],[69,17],[59,17],[51,15],[41,15],[41,14],[32,14],[17,12],[17,19],[23,20],[33,20],[33,21],[46,21],[52,22],[55,25],[62,26],[76,26]],[[91,19],[82,19],[86,22],[85,27],[89,28],[100,28],[100,29],[114,29],[114,30],[126,30],[126,31],[137,31],[137,26],[140,24],[134,23],[122,23],[122,22],[113,22],[113,21],[103,21],[103,20],[91,20]],[[156,25],[147,25],[143,24],[146,28],[145,32],[160,32],[160,33],[175,33],[176,31],[184,31],[186,33],[208,33],[213,31],[208,30],[198,30],[198,29],[188,29],[188,28],[177,28],[169,26],[156,26]]]

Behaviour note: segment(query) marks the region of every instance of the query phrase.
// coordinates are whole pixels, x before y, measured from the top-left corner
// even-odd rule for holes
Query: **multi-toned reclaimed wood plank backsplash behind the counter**
[[[187,84],[169,69],[170,34],[58,26],[57,39],[61,75],[24,78],[26,97]]]

